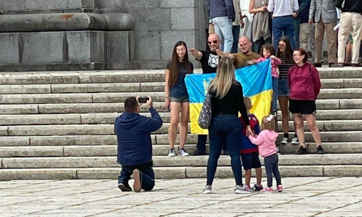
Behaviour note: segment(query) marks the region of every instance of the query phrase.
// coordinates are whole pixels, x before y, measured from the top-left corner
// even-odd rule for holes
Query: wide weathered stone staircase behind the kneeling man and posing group
[[[316,116],[328,154],[313,154],[315,144],[308,143],[311,154],[295,156],[298,145],[281,145],[280,172],[360,176],[362,70],[321,68],[320,76],[323,89]],[[135,95],[151,95],[164,120],[151,136],[156,177],[206,177],[208,156],[166,156],[169,113],[163,106],[163,70],[11,72],[0,75],[0,84],[0,180],[117,178],[113,122],[123,111],[125,98]],[[143,115],[149,115],[147,111],[142,107]],[[292,121],[289,124],[293,131]],[[310,132],[306,140],[313,141]],[[196,142],[197,135],[190,134],[186,145],[190,153]],[[221,156],[219,165],[217,177],[232,176],[230,157]]]

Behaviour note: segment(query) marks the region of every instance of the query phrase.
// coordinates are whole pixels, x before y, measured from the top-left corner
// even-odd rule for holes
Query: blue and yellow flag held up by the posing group
[[[212,74],[193,74],[185,78],[190,101],[191,133],[208,134],[198,124],[199,114],[207,94],[210,81],[216,76]],[[273,94],[271,85],[270,59],[235,70],[236,80],[243,86],[244,97],[251,99],[253,108],[251,113],[261,120],[270,112]]]

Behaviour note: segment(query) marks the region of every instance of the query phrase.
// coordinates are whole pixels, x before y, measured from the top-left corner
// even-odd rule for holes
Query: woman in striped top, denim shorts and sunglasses
[[[282,60],[279,67],[279,84],[278,84],[278,101],[280,110],[282,111],[283,139],[281,144],[287,144],[289,141],[289,86],[288,86],[288,70],[294,65],[293,50],[291,48],[289,37],[283,36],[278,43],[277,57]],[[291,141],[292,144],[299,144],[296,133]]]

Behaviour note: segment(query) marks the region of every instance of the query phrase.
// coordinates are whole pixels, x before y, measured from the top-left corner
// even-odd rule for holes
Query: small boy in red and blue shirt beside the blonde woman
[[[251,129],[254,131],[256,135],[260,133],[260,125],[259,121],[254,114],[250,114],[250,110],[253,107],[251,104],[251,100],[248,97],[244,97],[244,104],[247,108],[249,123]],[[243,123],[243,144],[241,145],[240,156],[241,161],[243,162],[243,167],[245,170],[245,184],[244,191],[260,191],[263,189],[261,185],[261,163],[259,159],[258,146],[254,145],[246,135],[246,128],[243,119],[239,118],[241,123]],[[254,168],[256,171],[256,184],[254,187],[250,187],[250,179],[251,179],[251,169]]]

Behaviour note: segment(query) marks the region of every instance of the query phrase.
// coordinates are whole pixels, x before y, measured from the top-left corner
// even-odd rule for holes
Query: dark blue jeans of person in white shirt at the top
[[[273,17],[273,37],[274,37],[274,48],[275,51],[278,50],[278,43],[282,37],[282,33],[288,36],[290,39],[290,45],[292,49],[295,48],[294,43],[294,20],[293,17],[283,16],[283,17]]]

